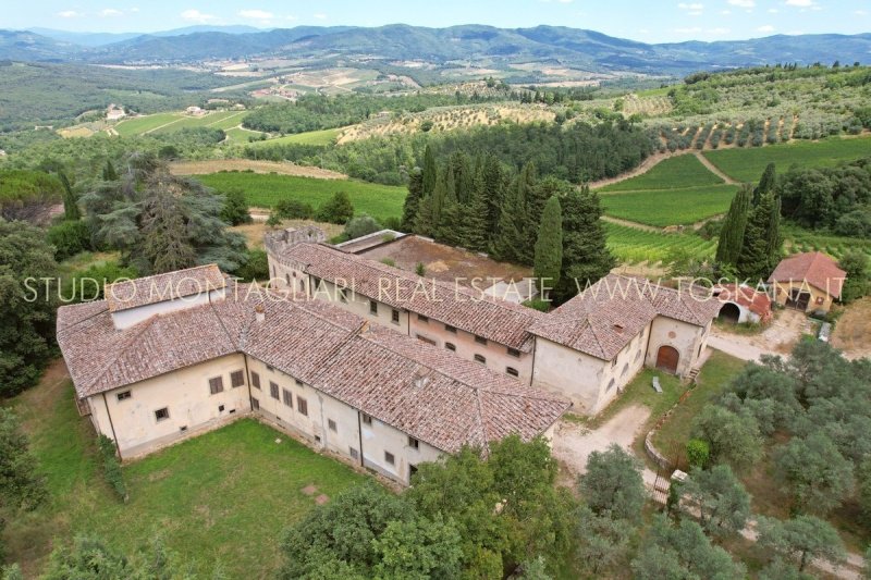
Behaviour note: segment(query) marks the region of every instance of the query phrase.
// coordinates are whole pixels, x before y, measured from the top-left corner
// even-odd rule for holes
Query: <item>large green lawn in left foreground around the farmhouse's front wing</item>
[[[62,365],[56,365],[62,368]],[[123,468],[130,502],[112,495],[98,469],[94,431],[73,404],[68,380],[14,402],[46,474],[51,502],[11,521],[11,562],[34,577],[51,543],[95,534],[125,553],[161,534],[208,578],[269,577],[280,564],[281,531],[315,507],[302,488],[330,497],[365,480],[250,419],[167,448]],[[281,443],[275,443],[281,439]],[[317,494],[316,494],[317,495]]]

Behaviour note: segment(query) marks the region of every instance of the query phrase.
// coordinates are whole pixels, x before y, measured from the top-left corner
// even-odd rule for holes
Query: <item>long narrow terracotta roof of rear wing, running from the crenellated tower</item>
[[[529,326],[545,317],[462,284],[421,277],[367,258],[320,244],[296,244],[279,259],[308,274],[335,283],[393,308],[418,312],[489,341],[528,353]]]

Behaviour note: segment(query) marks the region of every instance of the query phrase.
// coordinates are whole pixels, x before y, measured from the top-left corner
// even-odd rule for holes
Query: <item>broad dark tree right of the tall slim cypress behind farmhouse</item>
[[[573,187],[560,200],[563,208],[563,267],[560,284],[555,287],[557,300],[565,301],[584,288],[605,276],[617,261],[608,249],[602,225],[602,207],[599,196],[588,186]]]

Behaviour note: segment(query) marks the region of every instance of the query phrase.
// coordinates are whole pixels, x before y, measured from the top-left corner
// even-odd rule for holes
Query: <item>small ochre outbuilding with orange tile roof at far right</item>
[[[841,298],[846,279],[835,260],[810,251],[783,259],[768,282],[777,304],[802,312],[829,312],[832,303]]]

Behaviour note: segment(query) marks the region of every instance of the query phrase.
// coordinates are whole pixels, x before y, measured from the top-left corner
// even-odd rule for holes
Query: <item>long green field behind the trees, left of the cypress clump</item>
[[[405,187],[392,185],[263,173],[211,173],[198,175],[197,180],[219,192],[242,189],[248,203],[263,208],[272,207],[282,199],[298,199],[317,209],[336,192],[345,192],[356,213],[368,213],[379,220],[401,217],[408,193]]]

